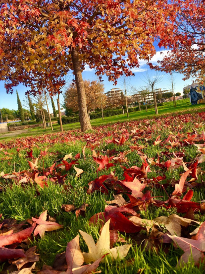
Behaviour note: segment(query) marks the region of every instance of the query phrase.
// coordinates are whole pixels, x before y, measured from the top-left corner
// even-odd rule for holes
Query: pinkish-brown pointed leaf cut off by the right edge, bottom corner
[[[181,249],[184,254],[181,256],[178,266],[184,266],[190,259],[193,258],[197,264],[201,259],[205,258],[205,222],[200,226],[200,229],[196,235],[196,240],[182,238],[178,236],[168,235]]]

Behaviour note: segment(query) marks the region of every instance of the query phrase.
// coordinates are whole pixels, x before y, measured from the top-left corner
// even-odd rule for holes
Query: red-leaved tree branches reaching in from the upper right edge
[[[172,0],[172,6],[176,16],[174,31],[168,45],[166,41],[159,42],[169,52],[157,66],[151,67],[183,73],[184,80],[190,77],[201,80],[205,75],[205,1]]]

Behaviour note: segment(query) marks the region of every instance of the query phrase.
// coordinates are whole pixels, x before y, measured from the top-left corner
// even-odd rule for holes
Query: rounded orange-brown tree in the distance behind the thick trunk
[[[105,104],[104,86],[100,81],[84,80],[86,94],[86,108],[88,115],[91,110],[102,108]],[[77,85],[71,83],[64,92],[64,106],[73,112],[79,111]]]

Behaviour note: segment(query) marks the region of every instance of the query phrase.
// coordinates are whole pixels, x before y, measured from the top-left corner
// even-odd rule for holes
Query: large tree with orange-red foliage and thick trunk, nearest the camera
[[[82,78],[85,65],[115,83],[123,74],[132,75],[140,59],[154,56],[156,37],[169,43],[173,28],[166,17],[174,18],[168,0],[2,1],[0,80],[7,92],[23,83],[28,93],[46,89],[53,95],[72,70],[81,130],[86,131],[91,124]]]

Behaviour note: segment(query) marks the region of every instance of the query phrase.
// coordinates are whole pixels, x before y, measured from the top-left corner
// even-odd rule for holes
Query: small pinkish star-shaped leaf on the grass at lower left
[[[34,236],[40,235],[41,238],[44,237],[45,231],[53,231],[59,228],[63,228],[63,225],[60,225],[56,222],[46,221],[47,219],[47,210],[44,211],[38,219],[32,217],[32,220],[37,223],[37,227],[34,230]]]

